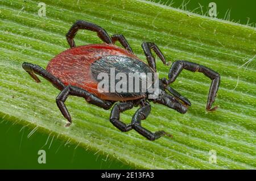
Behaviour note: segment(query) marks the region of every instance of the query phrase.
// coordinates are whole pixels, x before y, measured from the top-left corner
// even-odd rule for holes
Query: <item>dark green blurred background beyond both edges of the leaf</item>
[[[170,4],[171,1],[161,2]],[[191,0],[186,7],[192,11],[201,5],[206,12],[210,2],[217,4],[217,18],[224,19],[227,10],[231,10],[230,20],[247,24],[250,18],[249,24],[256,23],[255,0]],[[172,3],[172,7],[181,8],[183,0],[174,0]],[[201,14],[201,9],[194,12]],[[35,132],[28,138],[31,131],[28,127],[0,119],[0,169],[135,169],[122,162],[109,158],[106,160],[105,156],[95,154],[96,151],[86,151],[79,146],[76,148],[76,145],[66,144],[56,137],[52,139],[45,133]],[[38,150],[41,149],[46,150],[46,164],[38,163]]]

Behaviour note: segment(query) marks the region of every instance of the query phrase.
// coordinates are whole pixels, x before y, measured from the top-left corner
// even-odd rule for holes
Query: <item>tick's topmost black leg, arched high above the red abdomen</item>
[[[104,41],[107,44],[112,44],[112,40],[110,39],[108,33],[104,30],[104,28],[97,26],[97,24],[85,22],[83,20],[77,20],[69,29],[66,35],[68,44],[71,48],[76,47],[74,37],[76,36],[77,31],[79,30],[89,30],[97,32],[98,37],[100,37],[102,41]]]

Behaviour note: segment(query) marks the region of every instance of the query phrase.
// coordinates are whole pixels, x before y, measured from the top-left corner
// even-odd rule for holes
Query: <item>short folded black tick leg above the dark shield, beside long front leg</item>
[[[144,42],[142,43],[142,49],[144,51],[144,54],[147,58],[148,65],[156,72],[156,64],[155,64],[155,57],[153,56],[151,49],[154,50],[156,55],[162,60],[164,65],[166,64],[166,58],[164,58],[163,53],[161,50],[158,48],[158,46],[155,43],[151,42]]]

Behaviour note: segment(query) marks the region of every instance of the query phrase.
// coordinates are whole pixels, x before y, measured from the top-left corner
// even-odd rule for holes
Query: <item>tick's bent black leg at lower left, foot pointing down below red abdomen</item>
[[[88,102],[90,104],[94,104],[98,107],[102,107],[105,110],[109,110],[113,104],[112,102],[109,102],[107,100],[102,100],[102,99],[98,98],[97,96],[95,96],[95,95],[89,93],[88,91],[83,90],[79,87],[67,86],[67,87],[65,87],[65,89],[63,89],[63,91],[60,92],[60,94],[56,98],[57,106],[60,108],[60,111],[63,114],[63,116],[65,117],[65,119],[67,119],[69,121],[69,123],[66,125],[66,127],[68,127],[72,123],[71,116],[69,115],[67,107],[64,104],[65,100],[68,98],[69,95],[75,95],[75,96],[85,98],[86,102]]]

